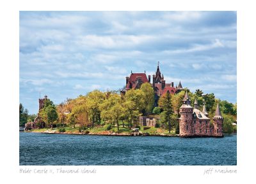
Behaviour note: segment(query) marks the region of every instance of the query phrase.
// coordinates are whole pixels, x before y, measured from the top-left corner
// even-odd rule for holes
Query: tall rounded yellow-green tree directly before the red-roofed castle
[[[148,115],[152,112],[154,107],[154,89],[151,87],[150,83],[143,83],[140,87],[140,90],[144,92],[144,101],[145,101],[145,114]]]

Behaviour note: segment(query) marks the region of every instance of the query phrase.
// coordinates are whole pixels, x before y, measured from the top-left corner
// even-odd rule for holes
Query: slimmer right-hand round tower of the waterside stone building
[[[217,104],[215,115],[213,117],[213,126],[214,126],[213,136],[223,137],[224,136],[223,135],[223,117],[221,116],[219,103]]]

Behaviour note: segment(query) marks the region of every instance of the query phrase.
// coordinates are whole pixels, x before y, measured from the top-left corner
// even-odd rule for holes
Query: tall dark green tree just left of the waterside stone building
[[[172,98],[170,92],[167,91],[166,94],[160,97],[159,106],[163,108],[163,117],[166,122],[168,122],[169,133],[171,132],[171,118],[173,115]]]

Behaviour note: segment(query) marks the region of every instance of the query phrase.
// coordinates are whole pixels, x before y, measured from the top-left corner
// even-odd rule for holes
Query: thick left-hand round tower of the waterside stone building
[[[188,137],[193,136],[193,108],[190,106],[191,102],[186,92],[183,104],[180,106],[180,136]]]

